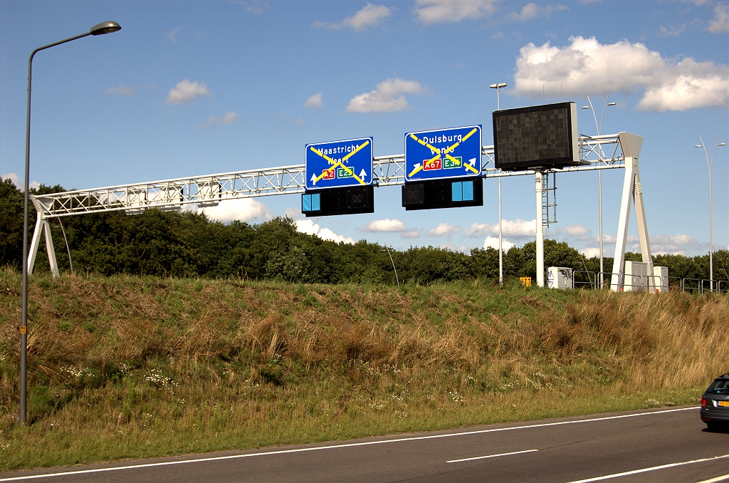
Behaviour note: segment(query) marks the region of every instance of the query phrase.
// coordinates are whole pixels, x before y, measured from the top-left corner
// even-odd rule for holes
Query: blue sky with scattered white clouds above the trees
[[[729,140],[726,1],[0,1],[0,175],[22,181],[26,72],[34,48],[104,20],[122,30],[34,60],[31,179],[95,188],[303,163],[307,143],[483,125],[492,144],[493,82],[502,108],[586,96],[608,107],[603,134],[644,136],[641,177],[652,248],[708,251],[711,149]],[[592,114],[579,130],[595,134]],[[714,249],[729,245],[729,147],[713,169]],[[20,175],[20,177],[18,177]],[[604,171],[612,256],[623,171]],[[588,255],[598,246],[598,175],[557,176],[547,236]],[[531,177],[504,179],[504,238],[534,239]],[[398,187],[375,213],[300,221],[334,239],[468,250],[498,222],[484,206],[405,212]],[[231,201],[208,215],[258,223],[300,216],[300,195]],[[635,234],[634,217],[631,231]],[[628,250],[636,240],[631,238]],[[728,267],[729,268],[729,267]]]

